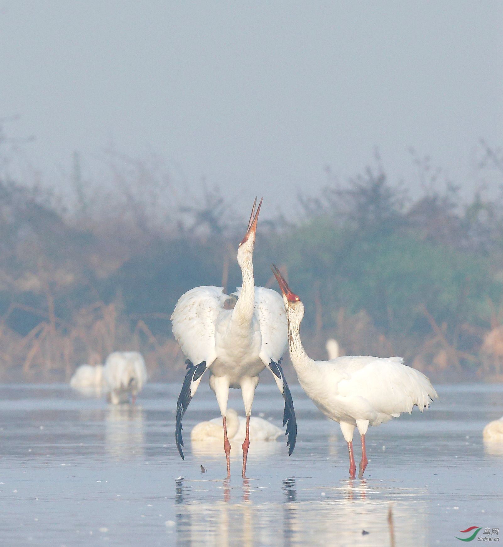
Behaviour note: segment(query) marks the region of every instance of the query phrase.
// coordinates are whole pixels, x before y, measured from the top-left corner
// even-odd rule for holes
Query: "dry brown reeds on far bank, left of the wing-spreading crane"
[[[75,312],[70,321],[54,314],[54,301],[48,295],[49,313],[22,304],[11,304],[0,321],[2,380],[67,381],[80,363],[104,363],[112,351],[137,350],[145,354],[150,374],[162,376],[166,363],[179,353],[172,339],[159,340],[143,319],[132,331],[118,313],[116,304],[96,302]],[[24,310],[40,317],[25,336],[7,326],[11,313]]]

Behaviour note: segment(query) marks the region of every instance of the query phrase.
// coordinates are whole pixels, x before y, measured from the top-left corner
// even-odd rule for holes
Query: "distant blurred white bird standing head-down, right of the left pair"
[[[112,404],[132,403],[147,383],[147,368],[141,353],[137,351],[114,351],[110,353],[103,370],[104,379],[110,390]]]

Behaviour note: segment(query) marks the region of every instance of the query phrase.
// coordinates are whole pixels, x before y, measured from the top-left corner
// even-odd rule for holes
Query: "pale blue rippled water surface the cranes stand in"
[[[220,446],[191,446],[191,427],[218,416],[207,384],[185,415],[180,459],[179,387],[151,384],[137,406],[113,408],[63,385],[0,386],[0,543],[375,547],[392,545],[390,505],[396,547],[462,545],[470,526],[503,537],[503,445],[482,441],[503,415],[503,386],[437,386],[428,412],[370,428],[363,480],[348,478],[338,425],[294,386],[293,455],[284,437],[252,444],[246,481],[238,444],[230,481]],[[230,406],[242,414],[238,392]],[[280,426],[282,409],[276,386],[260,385],[254,414]]]

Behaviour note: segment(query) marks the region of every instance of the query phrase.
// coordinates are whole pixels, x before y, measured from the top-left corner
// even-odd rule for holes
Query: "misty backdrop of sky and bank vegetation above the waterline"
[[[176,373],[169,315],[239,286],[255,195],[313,357],[501,379],[500,2],[4,0],[0,51],[4,380]]]

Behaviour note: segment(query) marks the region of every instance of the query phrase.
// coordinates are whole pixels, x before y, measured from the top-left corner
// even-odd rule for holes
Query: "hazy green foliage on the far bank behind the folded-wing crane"
[[[311,312],[318,281],[325,324],[333,324],[343,306],[366,310],[387,334],[410,335],[429,330],[423,306],[438,323],[480,325],[487,322],[487,299],[503,299],[503,284],[486,258],[422,241],[410,231],[360,232],[317,218],[283,237],[276,254]]]

